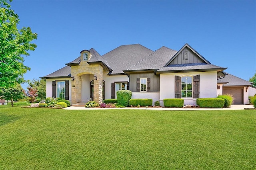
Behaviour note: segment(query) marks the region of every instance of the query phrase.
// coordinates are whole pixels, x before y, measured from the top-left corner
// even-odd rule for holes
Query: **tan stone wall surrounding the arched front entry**
[[[103,67],[100,64],[88,64],[86,61],[81,61],[78,66],[71,66],[71,74],[75,80],[71,82],[72,90],[72,104],[81,102],[81,75],[96,74],[97,80],[94,80],[94,101],[102,103],[102,80]],[[90,93],[90,92],[89,92]]]

